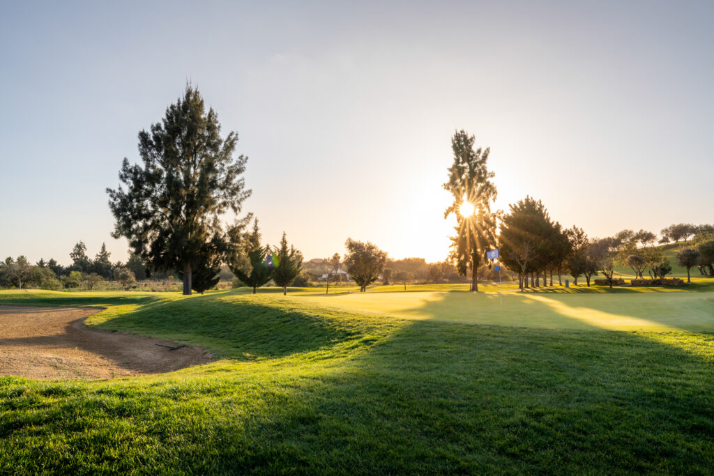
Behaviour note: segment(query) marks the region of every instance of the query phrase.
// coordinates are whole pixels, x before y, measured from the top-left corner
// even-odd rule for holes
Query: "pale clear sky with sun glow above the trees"
[[[0,255],[126,259],[106,187],[186,81],[263,238],[442,260],[451,135],[590,236],[713,223],[710,1],[0,1]]]

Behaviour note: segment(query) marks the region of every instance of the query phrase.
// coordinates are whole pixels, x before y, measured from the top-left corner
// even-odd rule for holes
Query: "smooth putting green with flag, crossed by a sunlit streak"
[[[417,291],[288,299],[376,315],[551,329],[714,331],[710,293],[490,293]]]

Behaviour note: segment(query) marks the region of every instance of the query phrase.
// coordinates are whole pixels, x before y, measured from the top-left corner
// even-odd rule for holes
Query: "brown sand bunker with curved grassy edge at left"
[[[198,347],[84,325],[99,309],[0,306],[0,375],[114,378],[171,372],[211,362]]]

